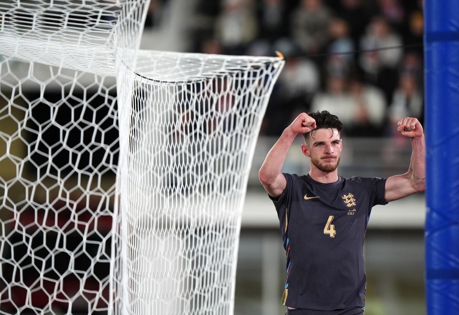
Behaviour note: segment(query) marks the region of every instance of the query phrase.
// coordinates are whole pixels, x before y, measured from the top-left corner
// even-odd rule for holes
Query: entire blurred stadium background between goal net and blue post
[[[235,314],[283,314],[285,258],[274,206],[258,183],[266,153],[299,112],[344,122],[343,176],[405,172],[410,144],[395,133],[423,121],[421,0],[152,0],[141,48],[286,57],[248,183]],[[398,47],[391,49],[377,49]],[[297,139],[283,171],[305,173]],[[425,311],[424,194],[373,209],[366,236],[367,315]],[[338,263],[338,262],[337,262]]]

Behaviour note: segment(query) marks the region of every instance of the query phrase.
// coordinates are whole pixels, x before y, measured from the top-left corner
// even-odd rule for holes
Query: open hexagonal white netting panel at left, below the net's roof
[[[0,62],[1,314],[110,306],[114,78]]]

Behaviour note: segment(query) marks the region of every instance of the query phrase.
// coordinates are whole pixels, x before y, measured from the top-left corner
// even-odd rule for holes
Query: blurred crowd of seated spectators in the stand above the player
[[[323,109],[349,136],[396,136],[406,116],[423,123],[422,0],[197,0],[196,13],[195,52],[286,57],[264,135]]]

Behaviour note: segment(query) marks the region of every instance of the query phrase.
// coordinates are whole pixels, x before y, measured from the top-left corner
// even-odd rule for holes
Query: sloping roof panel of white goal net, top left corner
[[[147,0],[0,1],[1,53],[102,75],[136,49]],[[131,58],[132,52],[128,52]],[[127,59],[128,61],[129,59]]]

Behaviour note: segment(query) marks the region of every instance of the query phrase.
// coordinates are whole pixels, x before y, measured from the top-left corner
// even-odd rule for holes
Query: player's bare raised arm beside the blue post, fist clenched
[[[416,118],[406,117],[398,122],[398,132],[411,139],[411,161],[408,172],[391,176],[386,181],[385,199],[397,200],[426,189],[426,145],[424,130]]]

